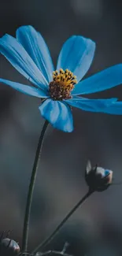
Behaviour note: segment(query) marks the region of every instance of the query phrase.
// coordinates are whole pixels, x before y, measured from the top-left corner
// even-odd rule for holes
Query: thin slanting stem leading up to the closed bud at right
[[[43,243],[39,243],[39,246],[35,248],[35,250],[32,251],[32,254],[35,254],[39,250],[41,251],[48,243],[51,242],[52,239],[57,235],[57,233],[60,231],[60,229],[63,227],[66,221],[68,221],[68,218],[72,216],[72,214],[79,208],[79,206],[93,193],[93,190],[89,190],[86,195],[83,196],[82,199],[79,200],[79,202],[70,210],[70,212],[65,216],[63,221],[61,221],[60,224],[58,224],[57,228],[54,230],[54,232],[48,236]]]

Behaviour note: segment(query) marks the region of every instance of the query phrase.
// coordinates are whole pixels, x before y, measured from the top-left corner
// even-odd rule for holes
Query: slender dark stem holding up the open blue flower
[[[33,191],[35,187],[35,178],[36,178],[36,173],[37,169],[39,166],[39,158],[43,146],[43,139],[44,135],[46,132],[46,128],[48,126],[48,121],[45,121],[43,125],[43,129],[41,132],[41,135],[39,137],[39,143],[37,146],[36,154],[35,154],[35,161],[33,165],[33,169],[31,172],[31,180],[28,188],[28,198],[26,202],[26,209],[25,209],[25,215],[24,215],[24,229],[23,229],[23,239],[22,239],[22,252],[26,252],[28,248],[28,231],[29,231],[29,221],[30,221],[30,213],[31,213],[31,202],[32,202],[32,196],[33,196]]]

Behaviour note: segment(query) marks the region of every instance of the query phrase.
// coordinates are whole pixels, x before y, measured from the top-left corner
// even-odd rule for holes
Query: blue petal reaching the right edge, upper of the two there
[[[122,83],[122,64],[98,72],[80,83],[77,83],[72,95],[87,95],[104,91]]]

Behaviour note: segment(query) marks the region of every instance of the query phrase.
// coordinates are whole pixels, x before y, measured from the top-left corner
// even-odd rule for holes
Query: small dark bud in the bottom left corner
[[[5,238],[0,242],[0,255],[16,256],[20,252],[20,247],[17,242],[12,239]]]

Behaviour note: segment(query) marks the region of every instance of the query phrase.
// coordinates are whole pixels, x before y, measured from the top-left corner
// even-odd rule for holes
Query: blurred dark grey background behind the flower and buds
[[[56,65],[62,44],[71,35],[97,43],[87,76],[122,62],[122,2],[112,0],[0,1],[0,36],[15,36],[16,29],[31,24],[45,38]],[[28,83],[0,56],[2,78]],[[86,77],[87,77],[86,76]],[[122,86],[88,98],[117,97]],[[0,85],[0,231],[11,229],[21,244],[24,209],[35,150],[43,127],[40,100]],[[52,232],[87,191],[87,159],[112,169],[122,181],[122,117],[73,109],[71,134],[46,132],[31,209],[29,250]],[[95,193],[76,211],[50,244],[61,250],[65,241],[73,255],[120,256],[122,253],[122,185]],[[92,239],[91,239],[92,237]],[[98,239],[96,239],[96,237]]]

